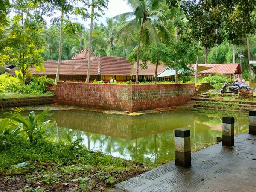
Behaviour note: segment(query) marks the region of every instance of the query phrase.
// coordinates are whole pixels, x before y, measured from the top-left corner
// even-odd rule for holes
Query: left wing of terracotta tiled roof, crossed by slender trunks
[[[35,70],[35,67],[32,66],[30,71],[34,75],[55,75],[57,71],[58,61],[45,61],[44,62],[44,69],[45,72],[38,72]],[[86,75],[87,74],[87,67],[88,67],[88,60],[87,59],[79,59],[79,60],[63,60],[61,61],[60,65],[60,75]],[[91,67],[90,69],[91,75],[98,74],[98,68],[95,69]]]

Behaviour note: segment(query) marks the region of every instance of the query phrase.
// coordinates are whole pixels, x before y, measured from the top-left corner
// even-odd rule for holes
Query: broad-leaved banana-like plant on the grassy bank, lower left
[[[29,113],[28,119],[21,116],[20,113],[15,113],[11,119],[22,124],[22,128],[24,132],[27,133],[30,143],[36,143],[38,139],[43,137],[45,126],[51,121],[47,120],[42,122],[48,111],[49,108],[44,110],[38,116],[35,116],[35,112],[31,111]]]

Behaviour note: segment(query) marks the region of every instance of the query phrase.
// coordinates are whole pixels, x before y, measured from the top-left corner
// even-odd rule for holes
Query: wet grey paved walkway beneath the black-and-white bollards
[[[235,136],[234,147],[220,142],[191,156],[190,168],[172,161],[116,187],[131,192],[256,191],[256,136],[242,133]]]

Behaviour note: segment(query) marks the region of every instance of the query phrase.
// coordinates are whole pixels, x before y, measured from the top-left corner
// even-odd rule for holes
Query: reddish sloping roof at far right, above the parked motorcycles
[[[191,65],[195,70],[195,64]],[[198,66],[202,67],[212,67],[210,69],[206,69],[203,71],[200,71],[198,73],[201,74],[213,74],[213,73],[219,73],[219,74],[241,74],[241,68],[238,63],[224,63],[224,64],[198,64]]]

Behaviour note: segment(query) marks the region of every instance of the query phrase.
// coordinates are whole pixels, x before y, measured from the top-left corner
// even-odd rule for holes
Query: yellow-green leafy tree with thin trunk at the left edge
[[[24,19],[21,13],[13,17],[7,31],[0,64],[12,64],[21,70],[25,85],[26,73],[31,66],[43,68],[43,27],[36,20]]]

